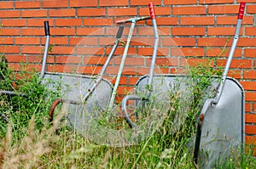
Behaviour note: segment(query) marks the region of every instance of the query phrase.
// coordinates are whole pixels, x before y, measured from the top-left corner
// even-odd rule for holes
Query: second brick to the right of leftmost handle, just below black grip
[[[70,37],[70,44],[97,46],[98,38],[97,37]]]

